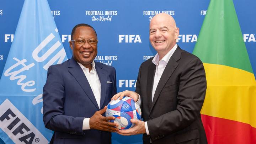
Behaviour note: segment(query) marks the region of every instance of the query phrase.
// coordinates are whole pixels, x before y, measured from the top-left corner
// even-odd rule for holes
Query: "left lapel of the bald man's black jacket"
[[[153,63],[151,63],[148,67],[148,81],[147,81],[146,92],[148,97],[149,110],[151,109],[151,104],[152,104],[152,88],[153,88],[153,82],[154,82],[155,68],[156,68],[156,65]]]

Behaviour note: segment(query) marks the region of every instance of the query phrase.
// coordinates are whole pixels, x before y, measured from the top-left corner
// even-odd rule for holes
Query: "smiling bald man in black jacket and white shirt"
[[[144,144],[207,144],[200,111],[206,94],[203,64],[176,44],[179,28],[174,18],[161,13],[149,26],[155,57],[140,65],[136,92],[119,92],[112,99],[130,96],[141,103],[144,121],[121,135],[143,134]]]

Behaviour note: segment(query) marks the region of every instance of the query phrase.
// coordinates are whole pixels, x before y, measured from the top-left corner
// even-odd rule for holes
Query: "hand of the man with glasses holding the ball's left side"
[[[102,113],[106,112],[107,106],[105,106],[100,111],[94,113],[94,115],[90,118],[90,128],[98,129],[108,132],[117,132],[119,129],[117,123],[107,122],[108,120],[113,120],[115,117],[103,117]]]

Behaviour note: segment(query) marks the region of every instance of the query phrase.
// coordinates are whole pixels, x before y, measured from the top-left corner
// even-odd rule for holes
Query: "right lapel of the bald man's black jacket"
[[[151,110],[153,109],[156,100],[158,99],[162,89],[164,88],[166,82],[169,80],[170,76],[172,75],[172,73],[174,72],[174,70],[177,68],[178,63],[177,61],[180,59],[181,57],[181,49],[180,47],[177,47],[177,49],[175,50],[174,54],[172,54],[169,62],[167,63],[164,72],[162,73],[162,76],[158,82],[158,86],[156,87],[156,91],[154,94],[154,98],[153,98],[153,102],[152,102],[152,107]],[[152,91],[152,88],[151,88]],[[150,112],[151,112],[150,110]]]

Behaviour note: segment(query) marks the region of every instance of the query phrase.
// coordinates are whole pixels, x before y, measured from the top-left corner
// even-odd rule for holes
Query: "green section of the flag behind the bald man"
[[[232,0],[211,0],[193,51],[203,63],[253,73]]]

